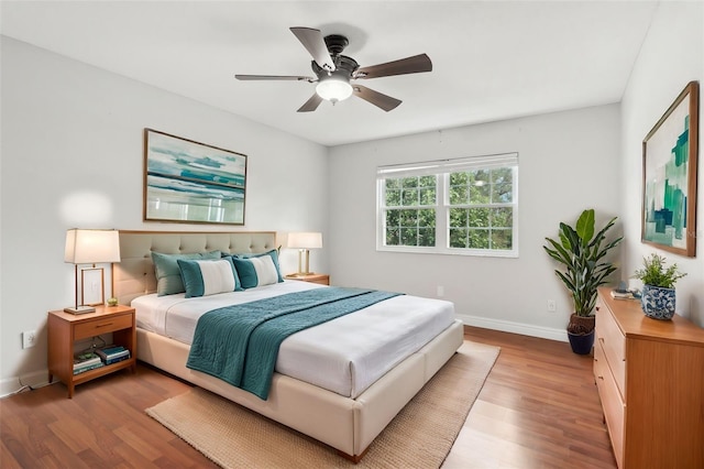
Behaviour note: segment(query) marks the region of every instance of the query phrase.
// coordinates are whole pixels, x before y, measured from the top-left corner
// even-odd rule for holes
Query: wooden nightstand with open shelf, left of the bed
[[[96,306],[95,313],[73,315],[48,312],[48,381],[56,377],[68,388],[68,399],[77,384],[125,368],[136,371],[136,325],[130,306]],[[74,342],[112,332],[112,343],[130,350],[130,358],[74,374]]]

